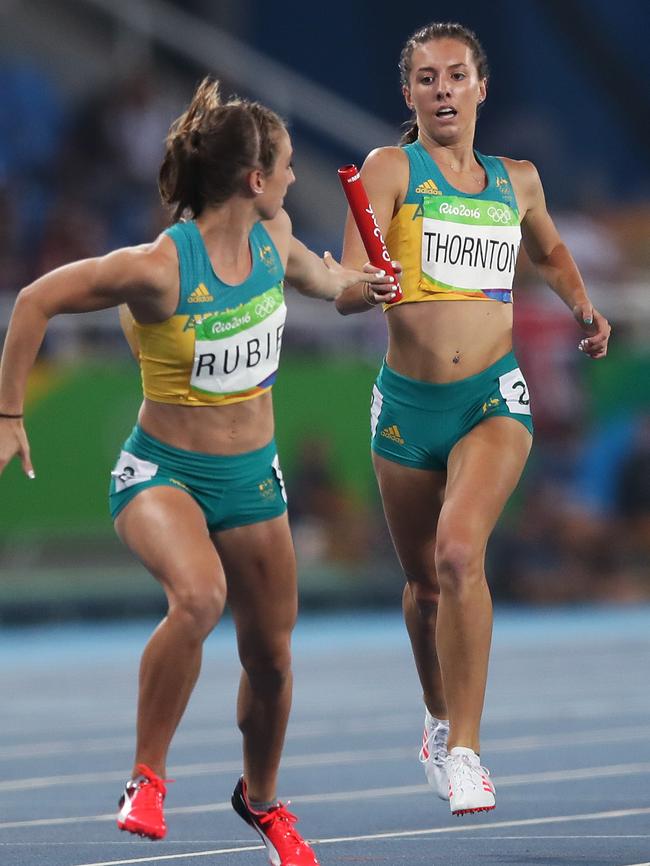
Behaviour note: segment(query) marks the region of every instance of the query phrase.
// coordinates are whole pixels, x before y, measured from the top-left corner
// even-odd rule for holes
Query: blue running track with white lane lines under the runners
[[[155,623],[5,629],[2,866],[264,866],[229,804],[241,768],[232,626],[206,645],[169,765],[169,835],[120,833],[137,666]],[[303,615],[280,795],[322,866],[650,866],[650,609],[497,611],[488,815],[452,818],[417,759],[397,611]]]

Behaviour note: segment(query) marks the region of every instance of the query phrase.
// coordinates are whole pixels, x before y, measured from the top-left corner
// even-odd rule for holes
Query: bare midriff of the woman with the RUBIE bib
[[[274,434],[270,391],[225,406],[178,406],[145,399],[138,421],[155,439],[203,454],[254,451],[270,442]]]

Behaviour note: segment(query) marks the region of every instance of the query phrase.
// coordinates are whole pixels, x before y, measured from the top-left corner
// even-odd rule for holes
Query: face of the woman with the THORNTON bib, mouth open
[[[474,136],[476,111],[486,96],[472,50],[457,39],[432,39],[413,49],[404,99],[420,130],[435,141],[451,143]]]

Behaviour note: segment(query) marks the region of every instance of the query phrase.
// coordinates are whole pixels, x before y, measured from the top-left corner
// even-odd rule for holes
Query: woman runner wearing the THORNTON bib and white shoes
[[[546,209],[535,167],[474,148],[488,68],[470,30],[432,23],[400,58],[413,121],[400,147],[366,159],[361,178],[401,300],[385,303],[388,351],[373,391],[372,459],[406,577],[403,608],[425,713],[420,753],[453,814],[495,806],[479,759],[492,632],[485,549],[532,443],[526,381],[512,354],[512,280],[520,241],[603,358],[610,327],[589,300]],[[348,218],[343,263],[364,261]],[[385,300],[346,289],[343,314]]]

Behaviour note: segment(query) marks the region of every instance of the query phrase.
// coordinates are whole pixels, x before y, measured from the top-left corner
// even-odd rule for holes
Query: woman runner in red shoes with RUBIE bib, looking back
[[[171,228],[153,243],[66,265],[19,293],[0,368],[0,471],[18,455],[34,474],[23,400],[48,321],[126,304],[144,402],[112,471],[111,511],[169,608],[142,656],[135,760],[118,826],[152,839],[166,834],[169,745],[227,597],[242,665],[243,775],[233,806],[276,866],[314,866],[295,816],[276,798],[297,610],[271,402],[283,285],[286,275],[303,294],[333,300],[359,280],[388,293],[390,280],[371,266],[344,269],[329,253],[321,260],[292,236],[282,209],[291,156],[276,114],[224,102],[218,84],[203,81],[170,129],[160,169]]]

